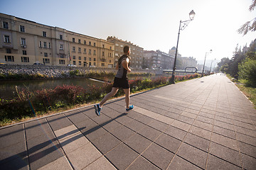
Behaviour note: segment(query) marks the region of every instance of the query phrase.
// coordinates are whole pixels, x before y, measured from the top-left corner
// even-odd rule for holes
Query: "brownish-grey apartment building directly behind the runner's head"
[[[124,54],[124,46],[128,45],[131,49],[131,65],[132,68],[139,68],[142,69],[143,64],[143,48],[139,47],[138,45],[134,45],[132,42],[127,42],[124,40],[119,40],[116,37],[108,37],[108,42],[114,43],[114,66],[117,64],[119,57]]]

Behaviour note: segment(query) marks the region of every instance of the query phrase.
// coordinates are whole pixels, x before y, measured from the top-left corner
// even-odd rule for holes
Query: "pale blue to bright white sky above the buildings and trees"
[[[256,17],[252,0],[1,0],[0,13],[106,40],[115,36],[144,50],[168,53],[176,47],[180,21],[196,16],[181,30],[178,53],[198,63],[231,59],[235,47],[247,47],[256,31],[237,30]],[[208,53],[210,50],[213,52]],[[216,60],[214,60],[216,59]]]

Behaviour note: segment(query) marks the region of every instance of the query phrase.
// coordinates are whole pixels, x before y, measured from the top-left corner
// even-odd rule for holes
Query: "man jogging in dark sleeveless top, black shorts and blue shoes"
[[[100,111],[102,109],[103,104],[112,96],[117,94],[118,89],[121,87],[124,89],[124,94],[125,94],[125,103],[126,103],[126,111],[132,110],[134,106],[129,106],[129,94],[130,94],[130,87],[129,87],[129,82],[127,78],[127,72],[131,72],[132,70],[129,68],[130,60],[131,57],[130,55],[130,48],[129,46],[124,46],[124,55],[122,55],[117,63],[116,69],[117,74],[114,77],[114,84],[112,86],[112,91],[110,91],[109,94],[107,94],[102,101],[99,104],[96,104],[94,106],[95,108],[95,113],[97,115],[100,115]]]

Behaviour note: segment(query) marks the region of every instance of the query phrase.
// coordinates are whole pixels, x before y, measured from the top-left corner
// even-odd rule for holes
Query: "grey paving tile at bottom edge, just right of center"
[[[174,154],[153,143],[145,152],[143,152],[142,156],[160,169],[166,169],[171,162],[171,159],[174,157]]]

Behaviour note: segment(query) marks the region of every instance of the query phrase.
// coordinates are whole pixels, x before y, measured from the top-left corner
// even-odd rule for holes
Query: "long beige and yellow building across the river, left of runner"
[[[114,67],[114,44],[0,13],[0,63]]]

